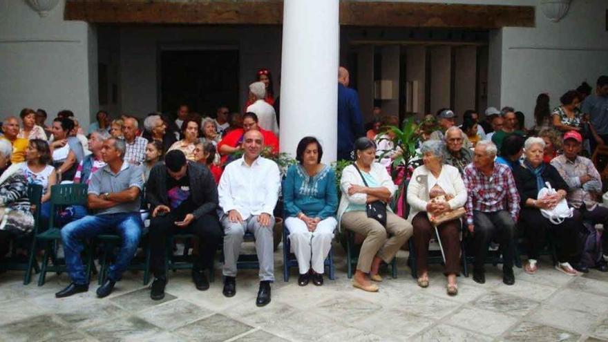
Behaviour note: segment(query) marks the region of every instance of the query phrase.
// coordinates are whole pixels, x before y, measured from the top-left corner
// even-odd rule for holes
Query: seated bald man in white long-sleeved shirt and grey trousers
[[[236,294],[236,261],[245,231],[253,231],[260,262],[260,289],[256,305],[270,303],[270,283],[274,281],[273,211],[281,187],[278,166],[260,157],[263,135],[256,130],[243,137],[243,158],[227,165],[220,184],[220,220],[224,236],[224,296]]]

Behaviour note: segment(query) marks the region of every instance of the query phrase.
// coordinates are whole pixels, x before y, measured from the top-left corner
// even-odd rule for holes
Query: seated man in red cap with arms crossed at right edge
[[[604,225],[602,249],[604,256],[596,266],[602,272],[608,272],[608,208],[598,202],[602,194],[602,178],[589,158],[579,155],[582,150],[582,136],[576,131],[564,134],[564,154],[551,160],[551,165],[558,170],[570,188],[568,204],[575,207],[583,220],[590,220],[593,225]],[[576,211],[575,211],[576,212]],[[578,213],[577,213],[578,215]]]

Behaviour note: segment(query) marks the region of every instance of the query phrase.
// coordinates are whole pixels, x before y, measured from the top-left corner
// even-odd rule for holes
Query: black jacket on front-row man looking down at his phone
[[[194,218],[200,218],[207,213],[215,213],[218,207],[218,187],[211,171],[204,165],[188,162],[190,178],[190,195],[197,207],[193,211]],[[151,209],[159,205],[169,206],[167,197],[167,167],[159,162],[150,171],[146,183],[146,199]]]

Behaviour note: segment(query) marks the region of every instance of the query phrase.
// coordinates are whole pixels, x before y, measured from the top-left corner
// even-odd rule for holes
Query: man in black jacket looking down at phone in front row
[[[216,215],[218,188],[209,169],[187,162],[182,151],[169,151],[164,163],[156,164],[150,171],[146,195],[153,209],[149,234],[155,279],[150,297],[153,300],[164,298],[167,236],[176,231],[198,236],[200,249],[192,279],[197,289],[209,289],[203,270],[213,266],[213,254],[222,242],[222,229]]]

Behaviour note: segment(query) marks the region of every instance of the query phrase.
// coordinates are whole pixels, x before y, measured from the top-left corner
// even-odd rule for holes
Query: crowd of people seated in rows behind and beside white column
[[[28,108],[20,115],[23,129],[17,117],[7,117],[0,139],[0,255],[6,255],[8,240],[35,226],[27,188],[40,184],[41,221],[57,216],[65,222],[61,241],[71,283],[57,298],[88,291],[82,252],[85,241],[100,234],[121,238],[106,281],[97,289],[100,298],[111,294],[142,240],[142,211],[149,211],[153,300],[164,298],[165,260],[171,250],[167,243],[173,234],[198,237],[191,273],[201,291],[209,289],[205,270],[213,269],[216,251],[222,249],[226,297],[236,294],[238,258],[249,234],[259,264],[256,305],[267,305],[274,282],[275,215],[285,217],[301,286],[310,281],[323,285],[325,258],[336,231],[349,231],[360,245],[352,285],[368,292],[379,290],[383,264],[392,263],[412,236],[415,265],[410,266],[417,269],[418,285],[429,286],[429,246],[435,240],[451,296],[458,293],[461,240],[472,256],[477,283],[485,282],[484,265],[495,244],[502,255],[502,281],[515,283],[520,238],[528,256],[526,273],[538,271],[548,240],[555,246],[558,271],[569,276],[589,272],[589,267],[608,271],[608,234],[602,235],[604,255],[599,258],[585,255],[581,241],[589,233],[586,225],[593,230],[608,223],[608,209],[598,197],[600,173],[582,155],[605,137],[578,110],[581,95],[576,91],[562,96],[553,120],[545,117],[544,127],[538,124],[538,135],[525,129],[511,107],[488,108],[485,127],[475,111],[464,114],[462,128],[447,108],[437,115],[439,126],[426,118],[419,125],[421,164],[404,177],[407,187],[401,196],[408,213],[399,215],[391,205],[398,186],[390,171],[410,161],[397,160],[403,151],[395,146],[395,132],[384,131],[379,120],[372,122],[366,137],[354,141],[353,160],[340,179],[321,162],[323,146],[310,136],[299,142],[296,163],[282,175],[271,158],[278,152],[278,122],[274,98],[272,93],[268,97],[268,84],[262,80],[267,75],[261,70],[258,82],[249,87],[250,103],[241,118],[229,117],[225,106],[211,119],[182,105],[175,120],[151,113],[142,130],[135,117],[111,121],[99,111],[83,142],[70,111],[59,112],[50,128],[44,125],[46,113]],[[608,80],[600,77],[602,87],[608,89]],[[383,122],[399,124],[397,117]],[[589,140],[593,144],[586,147]],[[53,185],[70,182],[88,185],[88,205],[50,212]],[[276,208],[281,193],[283,208]]]

